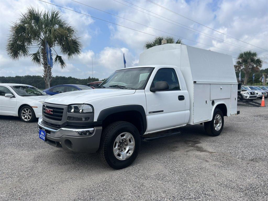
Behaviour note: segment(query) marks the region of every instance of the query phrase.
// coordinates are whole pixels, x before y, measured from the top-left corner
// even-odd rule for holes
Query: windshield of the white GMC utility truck
[[[117,70],[98,88],[144,89],[154,68],[129,68]]]

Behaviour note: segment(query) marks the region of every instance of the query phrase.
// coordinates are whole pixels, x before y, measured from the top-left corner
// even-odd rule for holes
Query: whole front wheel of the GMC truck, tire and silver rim
[[[133,163],[139,153],[139,148],[138,129],[129,122],[117,121],[104,129],[99,155],[111,168],[122,169]]]

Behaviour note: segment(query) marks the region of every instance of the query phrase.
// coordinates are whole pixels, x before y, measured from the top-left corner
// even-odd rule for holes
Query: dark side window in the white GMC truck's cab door
[[[169,90],[180,90],[178,77],[173,68],[162,68],[157,71],[152,81],[154,86],[156,82],[165,81],[169,85]]]

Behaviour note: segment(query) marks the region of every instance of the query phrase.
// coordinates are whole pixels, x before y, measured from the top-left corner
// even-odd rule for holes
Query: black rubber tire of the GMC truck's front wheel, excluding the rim
[[[114,141],[122,132],[129,132],[135,140],[135,148],[132,155],[125,160],[119,160],[115,157],[113,148]],[[135,161],[140,148],[140,134],[138,129],[131,123],[125,121],[116,121],[108,125],[102,132],[99,155],[102,161],[114,169],[126,168]]]

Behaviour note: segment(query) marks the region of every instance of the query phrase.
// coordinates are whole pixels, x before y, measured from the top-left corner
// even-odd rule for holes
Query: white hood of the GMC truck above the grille
[[[70,105],[76,103],[85,103],[99,98],[106,98],[110,96],[120,96],[134,94],[136,90],[128,89],[104,89],[97,88],[92,90],[81,90],[81,91],[72,91],[65,92],[61,94],[56,94],[45,99],[44,102],[61,104],[61,105]]]

